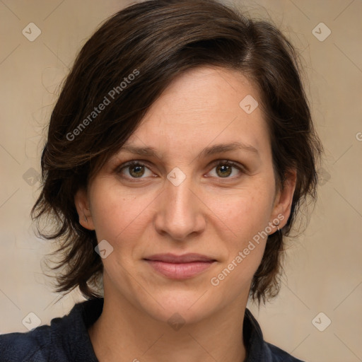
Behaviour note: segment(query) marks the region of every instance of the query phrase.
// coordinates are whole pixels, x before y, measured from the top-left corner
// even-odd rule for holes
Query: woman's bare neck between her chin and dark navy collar
[[[235,300],[204,320],[172,327],[105,294],[103,312],[88,332],[100,362],[243,362],[246,301]]]

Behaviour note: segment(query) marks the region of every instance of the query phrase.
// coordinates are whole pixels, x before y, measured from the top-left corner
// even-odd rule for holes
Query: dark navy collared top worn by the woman
[[[77,303],[64,317],[52,319],[30,332],[0,335],[0,362],[98,362],[90,327],[103,309],[103,298]],[[245,362],[302,362],[264,341],[250,310],[245,310],[243,336],[247,348]]]

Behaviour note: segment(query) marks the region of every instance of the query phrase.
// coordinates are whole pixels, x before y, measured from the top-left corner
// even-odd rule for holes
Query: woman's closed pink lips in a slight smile
[[[157,254],[144,259],[154,270],[170,279],[189,279],[209,269],[216,259],[201,254]]]

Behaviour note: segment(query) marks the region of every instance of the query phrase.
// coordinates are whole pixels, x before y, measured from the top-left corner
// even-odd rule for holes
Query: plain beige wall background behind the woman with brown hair
[[[73,293],[57,302],[40,264],[50,243],[35,237],[29,211],[57,86],[98,24],[127,4],[0,0],[0,333],[26,332],[22,320],[30,312],[49,323],[82,300]],[[289,244],[288,279],[266,308],[250,308],[265,339],[298,358],[362,361],[362,1],[243,4],[251,14],[271,18],[302,52],[326,151],[310,224]],[[22,34],[31,22],[41,30],[33,42]],[[312,33],[321,22],[332,31],[324,41]],[[312,323],[320,312],[325,315],[317,325],[332,321],[323,332]]]

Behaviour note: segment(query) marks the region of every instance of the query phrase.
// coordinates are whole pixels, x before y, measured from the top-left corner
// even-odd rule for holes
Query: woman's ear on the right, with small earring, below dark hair
[[[283,228],[286,225],[288,218],[291,215],[291,205],[293,202],[294,190],[296,189],[296,181],[296,170],[288,170],[283,186],[279,187],[278,192],[276,192],[273,211],[271,212],[271,222],[278,219],[280,221],[278,225],[279,228]]]

